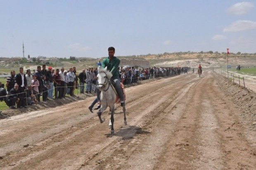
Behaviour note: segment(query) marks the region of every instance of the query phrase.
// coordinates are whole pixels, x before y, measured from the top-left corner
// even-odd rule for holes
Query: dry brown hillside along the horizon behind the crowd
[[[192,52],[179,52],[179,53],[164,53],[164,54],[148,54],[140,56],[118,56],[121,60],[122,65],[139,66],[140,68],[149,67],[197,67],[199,63],[204,68],[211,67],[223,67],[227,65],[227,54],[225,53],[192,53]],[[17,70],[20,66],[24,68],[30,68],[36,70],[37,65],[49,62],[47,66],[53,68],[76,66],[78,71],[83,68],[96,67],[99,60],[104,58],[77,58],[76,61],[70,61],[69,59],[62,58],[47,58],[47,61],[32,62],[31,59],[21,58],[0,58],[0,74],[3,75],[10,70]],[[25,62],[24,62],[25,61]],[[244,67],[255,67],[256,65],[256,54],[229,54],[228,65],[236,67],[236,65],[242,65]],[[18,71],[18,70],[17,70]]]

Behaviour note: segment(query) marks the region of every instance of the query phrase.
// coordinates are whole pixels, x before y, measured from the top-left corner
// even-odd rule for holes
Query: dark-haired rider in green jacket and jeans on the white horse
[[[115,48],[109,47],[108,48],[109,56],[108,58],[105,58],[102,61],[102,68],[107,67],[107,70],[109,70],[112,73],[111,79],[115,82],[115,88],[116,92],[119,95],[121,106],[125,106],[124,97],[123,97],[123,90],[120,86],[120,78],[119,78],[119,64],[120,60],[114,56],[115,54]]]

